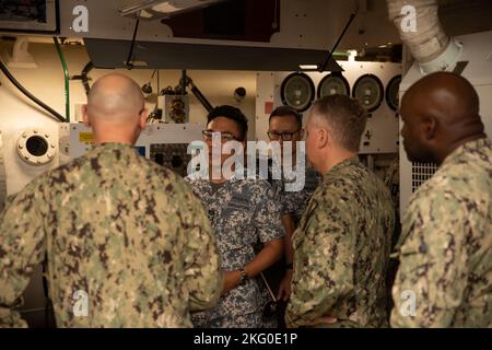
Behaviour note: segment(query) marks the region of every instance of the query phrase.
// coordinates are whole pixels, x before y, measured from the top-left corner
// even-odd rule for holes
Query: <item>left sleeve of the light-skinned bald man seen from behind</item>
[[[45,256],[44,220],[37,188],[9,199],[0,217],[0,327],[26,327],[13,307]]]

